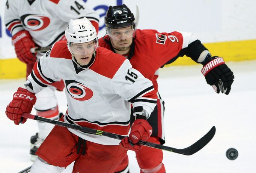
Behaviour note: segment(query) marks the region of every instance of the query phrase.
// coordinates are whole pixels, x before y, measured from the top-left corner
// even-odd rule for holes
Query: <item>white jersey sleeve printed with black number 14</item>
[[[90,21],[99,23],[99,14],[84,3],[83,0],[60,0],[57,7],[57,16],[62,21],[86,17]]]

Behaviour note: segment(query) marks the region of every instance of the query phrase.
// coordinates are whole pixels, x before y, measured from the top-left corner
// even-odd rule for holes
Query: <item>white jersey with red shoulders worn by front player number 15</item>
[[[58,41],[33,67],[26,89],[38,93],[54,81],[63,80],[68,102],[64,120],[105,132],[127,136],[130,111],[142,106],[149,115],[157,103],[152,82],[133,69],[128,59],[98,47],[93,64],[79,68],[72,61],[66,41]],[[119,145],[120,140],[90,135],[79,130],[70,132],[103,145]]]

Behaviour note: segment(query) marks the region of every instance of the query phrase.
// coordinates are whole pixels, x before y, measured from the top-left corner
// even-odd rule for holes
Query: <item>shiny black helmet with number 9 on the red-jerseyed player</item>
[[[133,25],[135,28],[135,18],[131,10],[125,5],[109,6],[106,16],[106,28],[122,28]]]

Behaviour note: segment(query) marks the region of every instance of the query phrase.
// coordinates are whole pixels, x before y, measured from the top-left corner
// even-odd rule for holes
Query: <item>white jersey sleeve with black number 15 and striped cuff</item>
[[[157,104],[157,95],[152,82],[132,68],[126,59],[112,80],[113,92],[121,96],[133,107],[142,106],[150,115]]]

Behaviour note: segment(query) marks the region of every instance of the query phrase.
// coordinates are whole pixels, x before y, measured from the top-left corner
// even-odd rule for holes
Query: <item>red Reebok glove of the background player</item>
[[[28,31],[22,30],[12,37],[12,44],[15,52],[21,62],[26,64],[35,64],[36,54],[30,52],[30,48],[36,47]]]

